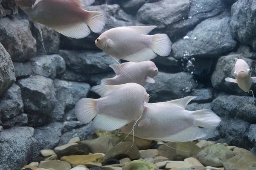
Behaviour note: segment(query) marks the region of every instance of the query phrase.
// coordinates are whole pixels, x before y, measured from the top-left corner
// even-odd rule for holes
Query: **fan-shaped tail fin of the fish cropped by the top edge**
[[[87,11],[87,17],[84,22],[90,27],[93,32],[103,30],[107,17],[103,11]]]

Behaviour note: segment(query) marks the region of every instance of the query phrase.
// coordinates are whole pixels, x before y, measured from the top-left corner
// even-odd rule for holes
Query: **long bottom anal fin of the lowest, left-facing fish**
[[[193,127],[188,127],[185,130],[182,130],[176,133],[175,135],[163,137],[163,141],[189,142],[189,141],[203,138],[206,135],[207,133],[203,129],[197,126],[193,126]]]

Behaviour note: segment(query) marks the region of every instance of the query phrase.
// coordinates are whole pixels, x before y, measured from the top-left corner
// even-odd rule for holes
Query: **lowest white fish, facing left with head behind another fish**
[[[188,142],[207,134],[199,128],[215,128],[221,119],[211,110],[187,111],[186,105],[195,96],[169,102],[147,103],[141,119],[134,127],[134,136],[169,142]],[[134,121],[121,128],[130,133]]]

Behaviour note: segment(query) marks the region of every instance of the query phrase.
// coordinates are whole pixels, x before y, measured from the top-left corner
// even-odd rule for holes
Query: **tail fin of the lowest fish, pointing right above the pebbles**
[[[214,129],[221,122],[221,118],[209,109],[193,111],[193,115],[195,116],[194,126],[201,126],[209,129]]]

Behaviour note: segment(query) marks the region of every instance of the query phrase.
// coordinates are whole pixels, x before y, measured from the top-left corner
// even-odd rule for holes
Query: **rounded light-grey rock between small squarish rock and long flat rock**
[[[56,75],[63,74],[66,69],[64,59],[57,54],[34,57],[30,61],[32,75],[41,75],[54,79]]]

